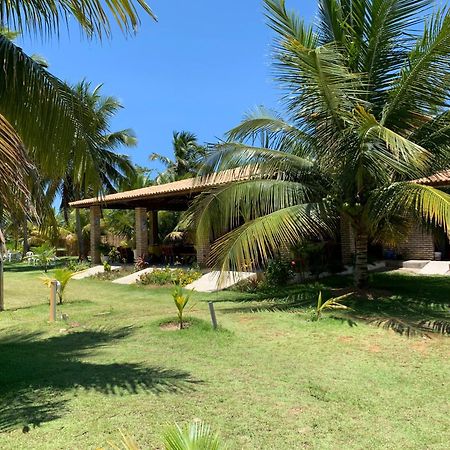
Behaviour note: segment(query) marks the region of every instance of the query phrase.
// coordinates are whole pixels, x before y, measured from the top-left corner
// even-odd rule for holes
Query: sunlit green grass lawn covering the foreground
[[[449,278],[376,275],[352,311],[320,322],[305,309],[318,285],[271,301],[196,294],[192,326],[163,331],[170,289],[74,280],[58,308],[67,321],[49,324],[38,277],[5,274],[0,448],[94,449],[119,429],[161,448],[168,423],[195,418],[231,449],[448,448],[449,341],[423,332],[446,330]]]

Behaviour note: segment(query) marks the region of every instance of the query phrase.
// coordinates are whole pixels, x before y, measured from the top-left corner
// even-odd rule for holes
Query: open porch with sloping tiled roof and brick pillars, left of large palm
[[[101,263],[100,219],[103,209],[134,210],[137,257],[148,258],[150,252],[155,249],[170,256],[170,249],[164,248],[168,246],[158,241],[158,212],[185,211],[199,194],[246,176],[248,175],[235,170],[227,170],[209,176],[188,178],[100,198],[78,200],[70,203],[70,206],[90,210],[90,255],[93,264]],[[194,247],[197,263],[204,266],[209,255],[209,236],[197,236]]]

